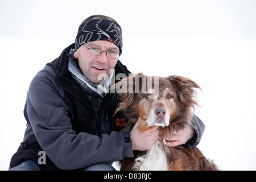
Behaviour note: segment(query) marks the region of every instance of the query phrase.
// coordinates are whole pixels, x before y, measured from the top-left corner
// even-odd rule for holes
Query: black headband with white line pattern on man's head
[[[122,29],[118,24],[106,19],[93,19],[79,27],[75,40],[75,50],[82,44],[96,40],[106,40],[115,44],[122,53]]]

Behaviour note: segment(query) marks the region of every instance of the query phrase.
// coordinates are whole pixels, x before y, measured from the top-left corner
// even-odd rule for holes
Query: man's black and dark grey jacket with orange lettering
[[[114,115],[117,94],[108,93],[96,113],[84,90],[68,71],[68,53],[48,63],[33,78],[27,94],[24,140],[13,155],[10,168],[26,160],[38,162],[38,152],[47,154],[43,169],[79,169],[96,163],[114,162],[133,157],[132,144],[118,131],[127,121],[122,113]],[[130,72],[118,60],[115,75]],[[196,118],[196,137],[188,147],[195,147],[204,131]]]

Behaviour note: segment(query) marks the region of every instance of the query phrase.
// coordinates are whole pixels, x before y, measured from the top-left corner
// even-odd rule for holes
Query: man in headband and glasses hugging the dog
[[[138,125],[130,134],[118,132],[122,126],[116,121],[127,121],[121,112],[114,115],[118,96],[104,88],[118,73],[130,73],[118,60],[121,53],[122,30],[114,19],[94,15],[81,23],[75,43],[31,81],[24,108],[27,129],[10,170],[114,170],[111,162],[154,145],[158,126],[144,133]],[[102,74],[109,78],[100,90]],[[177,131],[167,145],[195,147],[204,124],[196,116],[193,121],[195,131]]]

